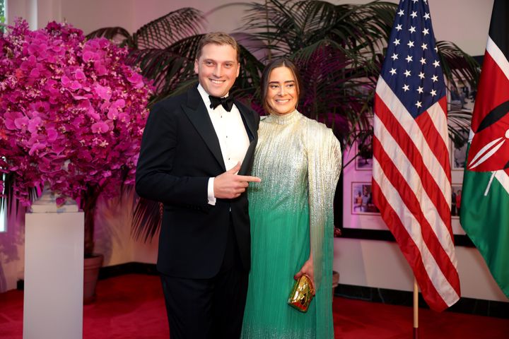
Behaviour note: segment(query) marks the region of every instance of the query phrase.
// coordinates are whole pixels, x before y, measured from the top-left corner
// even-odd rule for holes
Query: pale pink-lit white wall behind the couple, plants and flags
[[[455,42],[472,55],[484,54],[493,0],[428,1],[437,40]],[[361,4],[366,1],[331,2]],[[32,24],[37,21],[39,28],[49,20],[66,20],[85,33],[117,25],[134,32],[169,11],[191,6],[206,14],[208,25],[204,30],[232,32],[242,25],[242,11],[247,1],[228,3],[228,0],[8,0],[8,22],[12,23],[15,16],[23,16]],[[37,8],[35,16],[34,6]],[[109,201],[98,208],[96,250],[105,254],[105,265],[130,261],[155,263],[157,242],[134,242],[129,234],[129,201],[117,203]],[[412,289],[411,271],[396,244],[341,238],[334,242],[334,269],[340,273],[340,283]],[[458,246],[457,258],[464,297],[507,301],[476,249]],[[8,234],[0,234],[0,292],[15,288],[16,280],[22,275],[23,222]]]

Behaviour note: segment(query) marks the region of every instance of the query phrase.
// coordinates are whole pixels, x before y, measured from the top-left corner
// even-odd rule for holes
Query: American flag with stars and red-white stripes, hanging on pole
[[[375,94],[373,199],[423,298],[443,311],[460,299],[460,278],[437,52],[428,1],[400,1]]]

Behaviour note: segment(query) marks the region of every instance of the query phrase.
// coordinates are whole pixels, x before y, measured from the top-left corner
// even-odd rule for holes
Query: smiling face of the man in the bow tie
[[[225,96],[238,77],[240,64],[237,52],[229,44],[206,44],[201,56],[194,61],[194,73],[206,93]]]

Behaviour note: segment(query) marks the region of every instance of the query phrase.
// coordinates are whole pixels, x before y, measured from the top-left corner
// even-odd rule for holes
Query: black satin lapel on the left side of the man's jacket
[[[219,162],[223,170],[226,171],[216,131],[213,128],[209,112],[207,112],[197,88],[192,88],[187,91],[187,103],[186,105],[182,105],[182,109],[193,124],[194,128],[197,129],[201,138],[203,138],[209,150],[211,150],[213,156]]]

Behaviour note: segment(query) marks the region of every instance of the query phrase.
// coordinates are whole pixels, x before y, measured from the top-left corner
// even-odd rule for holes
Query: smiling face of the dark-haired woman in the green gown
[[[267,104],[276,114],[288,114],[297,107],[297,83],[288,67],[276,67],[269,74]]]

